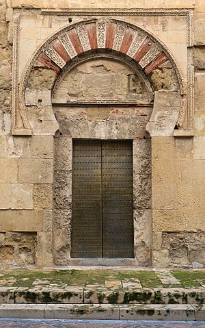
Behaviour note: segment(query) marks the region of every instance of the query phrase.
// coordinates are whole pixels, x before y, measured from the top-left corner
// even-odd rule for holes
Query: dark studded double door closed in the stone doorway
[[[73,140],[71,257],[133,257],[133,142]]]

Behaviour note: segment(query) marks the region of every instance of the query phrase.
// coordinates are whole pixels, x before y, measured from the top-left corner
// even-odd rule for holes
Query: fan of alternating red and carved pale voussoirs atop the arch
[[[122,21],[79,23],[63,31],[42,49],[38,60],[58,73],[72,58],[96,49],[124,53],[139,63],[146,74],[169,60],[152,36]]]

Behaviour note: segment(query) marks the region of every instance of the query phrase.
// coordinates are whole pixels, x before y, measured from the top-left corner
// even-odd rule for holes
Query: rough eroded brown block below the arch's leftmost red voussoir
[[[27,81],[27,88],[36,90],[51,90],[56,73],[49,68],[32,68]]]

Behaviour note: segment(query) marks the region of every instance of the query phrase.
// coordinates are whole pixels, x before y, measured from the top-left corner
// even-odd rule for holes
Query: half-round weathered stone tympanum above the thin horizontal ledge
[[[133,69],[118,61],[102,58],[88,60],[72,68],[61,81],[54,99],[135,99],[149,102],[150,96]]]

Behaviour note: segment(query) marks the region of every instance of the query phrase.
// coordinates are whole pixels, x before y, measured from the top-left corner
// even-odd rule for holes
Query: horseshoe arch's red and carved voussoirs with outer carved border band
[[[182,126],[186,103],[184,84],[179,68],[167,47],[141,27],[117,19],[100,18],[66,25],[47,38],[33,54],[20,79],[18,89],[18,104],[24,128],[30,129],[25,106],[25,89],[31,68],[36,63],[40,62],[58,76],[66,64],[77,62],[78,58],[80,62],[83,54],[89,56],[89,53],[92,55],[96,51],[103,50],[115,55],[119,54],[121,58],[123,55],[126,60],[135,62],[139,71],[147,77],[155,68],[169,61],[176,73],[182,95],[178,127]],[[13,129],[18,128],[18,111],[12,118]]]

